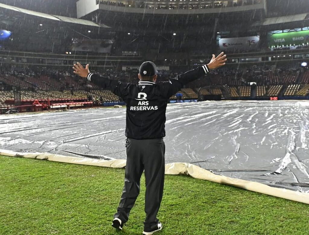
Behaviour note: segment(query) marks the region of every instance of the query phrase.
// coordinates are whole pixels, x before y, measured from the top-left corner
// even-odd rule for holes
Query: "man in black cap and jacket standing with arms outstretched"
[[[156,218],[163,195],[164,185],[164,153],[165,145],[165,111],[168,99],[185,84],[194,81],[210,69],[218,68],[226,62],[222,52],[213,57],[209,64],[178,75],[174,79],[155,82],[156,66],[147,61],[139,68],[139,82],[132,84],[102,77],[89,72],[89,64],[84,68],[80,63],[74,64],[74,73],[87,77],[88,81],[109,89],[120,96],[127,104],[125,136],[127,163],[125,167],[125,185],[117,213],[112,226],[122,229],[129,219],[129,213],[138,197],[140,178],[145,170],[146,195],[143,234],[153,234],[162,229]]]

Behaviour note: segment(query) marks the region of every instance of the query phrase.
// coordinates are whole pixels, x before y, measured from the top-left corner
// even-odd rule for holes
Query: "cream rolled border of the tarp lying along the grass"
[[[33,159],[43,159],[55,162],[74,163],[81,165],[111,167],[111,168],[123,168],[125,167],[125,159],[90,159],[90,158],[79,158],[72,156],[65,156],[60,154],[50,153],[27,153],[27,152],[15,152],[11,150],[0,149],[0,155],[11,156],[11,157],[24,157]],[[296,192],[289,189],[275,188],[268,185],[246,181],[226,176],[216,175],[208,170],[200,168],[191,163],[168,163],[165,164],[165,174],[167,175],[179,175],[185,174],[190,175],[196,179],[208,180],[219,184],[231,185],[242,189],[247,189],[253,192],[262,194],[268,194],[271,196],[285,198],[296,202],[303,202],[309,204],[309,194]]]

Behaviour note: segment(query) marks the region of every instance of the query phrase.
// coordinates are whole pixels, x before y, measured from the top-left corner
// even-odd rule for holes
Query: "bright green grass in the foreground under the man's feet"
[[[141,194],[121,232],[111,227],[124,169],[0,156],[0,234],[142,234]],[[156,234],[309,234],[309,205],[166,176]]]

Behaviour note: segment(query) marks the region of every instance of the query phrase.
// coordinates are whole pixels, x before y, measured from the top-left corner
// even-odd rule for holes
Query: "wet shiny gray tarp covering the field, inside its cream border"
[[[166,163],[309,192],[309,102],[167,106]],[[0,116],[0,149],[125,159],[125,109]]]

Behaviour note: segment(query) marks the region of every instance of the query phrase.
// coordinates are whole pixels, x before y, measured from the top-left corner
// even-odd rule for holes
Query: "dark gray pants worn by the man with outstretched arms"
[[[125,167],[125,186],[117,213],[122,223],[129,219],[130,211],[140,191],[140,179],[145,170],[145,227],[158,223],[156,215],[163,195],[164,186],[164,153],[163,138],[149,140],[127,140],[127,163]]]

